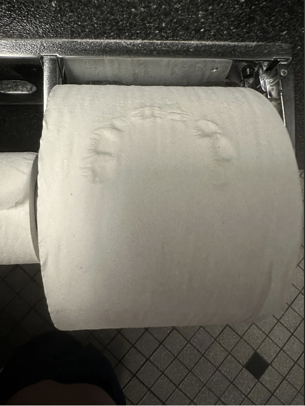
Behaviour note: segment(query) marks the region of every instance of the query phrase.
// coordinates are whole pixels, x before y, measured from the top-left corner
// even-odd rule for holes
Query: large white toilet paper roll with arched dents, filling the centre
[[[235,323],[284,303],[301,238],[298,169],[254,90],[56,86],[38,182],[60,329]]]

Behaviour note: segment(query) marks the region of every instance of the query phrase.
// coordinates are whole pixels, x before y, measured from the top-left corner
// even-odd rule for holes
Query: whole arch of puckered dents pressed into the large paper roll
[[[232,142],[214,121],[200,119],[194,122],[177,106],[161,109],[156,105],[147,105],[136,108],[129,117],[117,117],[112,122],[100,124],[93,130],[87,154],[81,165],[82,175],[93,184],[103,183],[112,178],[116,173],[119,159],[120,133],[126,131],[132,123],[137,124],[139,120],[189,120],[189,126],[194,128],[193,134],[196,138],[210,140],[213,159],[228,163],[236,157]],[[223,181],[218,183],[216,182],[220,189],[226,189],[226,183],[223,184]]]

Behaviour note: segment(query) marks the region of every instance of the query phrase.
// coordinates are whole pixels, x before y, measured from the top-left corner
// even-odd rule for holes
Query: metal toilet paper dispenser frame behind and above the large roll
[[[295,147],[287,44],[0,40],[0,104],[42,104],[58,84],[251,87],[270,100]]]

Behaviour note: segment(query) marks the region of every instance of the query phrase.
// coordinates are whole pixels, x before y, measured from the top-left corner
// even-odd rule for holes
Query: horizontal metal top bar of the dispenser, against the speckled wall
[[[162,57],[291,60],[287,44],[208,41],[2,39],[0,57]]]

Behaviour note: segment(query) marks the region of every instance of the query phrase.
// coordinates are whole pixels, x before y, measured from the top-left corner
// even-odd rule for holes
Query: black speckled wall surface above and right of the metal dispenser
[[[297,158],[303,168],[303,3],[300,0],[259,3],[254,0],[8,0],[0,5],[0,21],[1,38],[291,44]],[[17,120],[14,106],[10,107],[6,125],[8,121]],[[38,111],[39,106],[36,108]],[[4,109],[0,106],[0,116]],[[1,141],[0,150],[4,147]],[[18,149],[17,143],[15,149]]]

